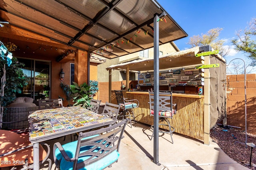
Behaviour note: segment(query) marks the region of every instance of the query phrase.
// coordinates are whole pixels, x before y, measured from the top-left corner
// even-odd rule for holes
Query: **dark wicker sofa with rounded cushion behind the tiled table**
[[[2,127],[4,129],[23,129],[29,126],[28,115],[38,110],[32,98],[19,97],[12,104],[5,107]],[[8,122],[8,123],[7,123]]]

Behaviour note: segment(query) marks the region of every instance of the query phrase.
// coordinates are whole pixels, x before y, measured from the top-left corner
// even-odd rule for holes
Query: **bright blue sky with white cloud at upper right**
[[[205,34],[216,27],[223,28],[219,39],[225,40],[224,45],[232,45],[230,40],[236,38],[236,31],[243,30],[252,18],[256,18],[256,0],[157,1],[188,34],[188,37],[174,41],[180,50],[190,48],[187,43],[193,35]],[[231,46],[230,54],[226,56],[227,64],[235,58],[244,59],[246,63],[250,62],[243,53],[236,53]],[[235,61],[241,62],[241,60]],[[250,69],[248,67],[246,71]]]

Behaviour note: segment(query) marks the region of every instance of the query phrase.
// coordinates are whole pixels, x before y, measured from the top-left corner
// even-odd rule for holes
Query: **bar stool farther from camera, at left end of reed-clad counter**
[[[128,98],[124,98],[123,92],[121,90],[115,90],[115,94],[117,103],[120,105],[120,109],[122,109],[119,118],[128,118],[129,123],[132,127],[132,121],[135,121],[132,109],[139,107],[139,101],[136,99],[129,100]]]

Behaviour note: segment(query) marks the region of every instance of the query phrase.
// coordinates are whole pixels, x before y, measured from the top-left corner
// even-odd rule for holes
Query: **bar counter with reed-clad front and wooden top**
[[[150,116],[148,92],[124,91],[123,94],[130,100],[137,99],[140,102],[139,107],[133,109],[136,121],[153,125],[154,117]],[[177,113],[169,120],[175,132],[204,140],[204,96],[173,93],[172,99],[177,104]]]

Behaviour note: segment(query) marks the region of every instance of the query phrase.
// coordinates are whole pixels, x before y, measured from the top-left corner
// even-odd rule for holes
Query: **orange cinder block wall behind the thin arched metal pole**
[[[256,74],[227,75],[227,123],[245,130],[245,88],[247,132],[256,134]]]

